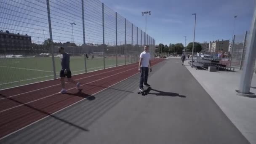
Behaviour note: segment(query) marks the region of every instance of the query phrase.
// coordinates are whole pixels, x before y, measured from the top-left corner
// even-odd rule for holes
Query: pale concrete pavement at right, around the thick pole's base
[[[256,99],[235,93],[239,88],[241,71],[208,72],[191,68],[188,61],[185,61],[185,65],[232,123],[251,144],[256,144]],[[256,93],[256,75],[253,75],[251,86],[254,87],[251,92]]]

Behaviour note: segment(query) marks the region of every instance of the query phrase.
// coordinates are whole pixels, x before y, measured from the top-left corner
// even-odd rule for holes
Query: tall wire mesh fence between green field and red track
[[[72,75],[139,61],[155,40],[98,0],[1,0],[0,89],[58,78],[60,54]]]

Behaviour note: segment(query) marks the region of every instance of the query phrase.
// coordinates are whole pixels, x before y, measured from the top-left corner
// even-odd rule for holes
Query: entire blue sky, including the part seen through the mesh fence
[[[103,43],[102,3],[104,3],[105,44],[115,45],[115,12],[117,12],[117,44],[124,44],[125,18],[127,19],[127,43],[141,42],[141,30],[145,31],[145,16],[142,11],[151,11],[147,19],[147,34],[156,44],[192,42],[194,16],[197,13],[196,42],[229,40],[232,38],[234,16],[237,15],[235,35],[243,40],[249,30],[255,0],[84,0],[85,42]],[[51,25],[54,42],[83,44],[81,0],[50,0]],[[46,0],[1,0],[0,30],[32,37],[33,43],[42,43],[49,38]],[[163,37],[163,39],[162,39]],[[142,32],[144,45],[144,32]]]

